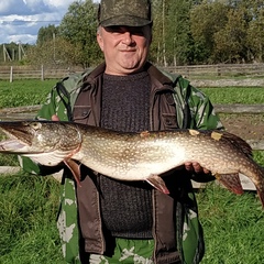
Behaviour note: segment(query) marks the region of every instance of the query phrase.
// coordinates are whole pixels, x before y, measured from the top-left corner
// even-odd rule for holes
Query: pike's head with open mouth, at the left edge
[[[52,157],[59,161],[74,154],[81,144],[76,124],[59,121],[0,122],[6,140],[0,142],[0,153],[22,154],[46,165]],[[43,154],[43,155],[41,155]],[[51,164],[48,162],[48,164]]]

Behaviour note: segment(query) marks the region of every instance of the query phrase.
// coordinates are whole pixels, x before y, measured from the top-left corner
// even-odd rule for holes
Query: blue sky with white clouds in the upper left
[[[38,30],[48,24],[58,25],[73,2],[75,0],[0,0],[0,44],[34,44]]]

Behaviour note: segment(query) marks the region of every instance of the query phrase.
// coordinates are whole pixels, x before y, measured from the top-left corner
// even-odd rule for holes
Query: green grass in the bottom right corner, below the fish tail
[[[260,264],[264,213],[255,193],[242,196],[211,185],[197,194],[205,231],[202,264]]]

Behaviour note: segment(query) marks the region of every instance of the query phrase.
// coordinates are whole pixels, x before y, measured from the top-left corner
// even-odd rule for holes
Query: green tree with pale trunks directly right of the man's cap
[[[193,62],[190,0],[153,0],[153,43],[151,58],[164,66]]]

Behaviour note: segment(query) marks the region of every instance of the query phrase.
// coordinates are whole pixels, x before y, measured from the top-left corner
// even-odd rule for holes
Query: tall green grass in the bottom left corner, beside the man
[[[0,176],[0,263],[63,263],[56,230],[59,184],[48,177]]]

